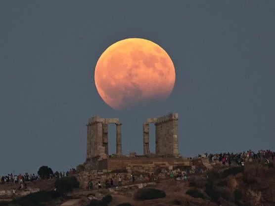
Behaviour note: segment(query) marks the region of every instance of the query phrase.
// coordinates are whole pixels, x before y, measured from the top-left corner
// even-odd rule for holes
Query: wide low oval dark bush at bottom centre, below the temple
[[[137,190],[135,198],[137,200],[153,200],[158,198],[164,198],[165,192],[154,188],[142,188]]]

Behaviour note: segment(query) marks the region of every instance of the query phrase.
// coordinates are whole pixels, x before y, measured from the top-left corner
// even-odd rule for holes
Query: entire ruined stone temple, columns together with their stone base
[[[116,154],[108,153],[108,124],[116,124]],[[155,125],[156,152],[149,150],[149,124]],[[142,180],[148,174],[160,172],[159,175],[169,175],[169,171],[189,171],[188,158],[179,154],[178,145],[178,114],[171,113],[158,118],[149,118],[143,123],[143,154],[136,152],[122,154],[122,124],[116,118],[89,119],[87,124],[87,158],[84,164],[78,166],[81,187],[85,187],[89,180],[104,181],[116,178],[120,173],[127,181],[132,173],[142,174],[137,178]],[[140,131],[140,138],[142,133]],[[161,172],[162,171],[162,172]]]

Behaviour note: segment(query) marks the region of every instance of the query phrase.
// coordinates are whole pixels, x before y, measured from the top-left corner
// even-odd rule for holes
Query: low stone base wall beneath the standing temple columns
[[[156,169],[164,170],[164,173],[158,174],[160,178],[166,178],[170,172],[174,173],[178,169],[191,167],[191,162],[187,158],[147,158],[147,157],[120,157],[120,158],[108,158],[98,160],[93,158],[94,168],[85,170],[78,173],[77,178],[80,181],[80,186],[85,188],[89,180],[93,182],[101,181],[104,183],[106,179],[113,178],[115,184],[117,184],[118,177],[122,177],[123,184],[131,184],[131,174],[135,174],[137,181],[147,180],[148,174],[152,174]],[[120,171],[114,172],[120,169]],[[121,173],[121,169],[126,169],[124,173]],[[183,171],[182,170],[182,171]],[[113,171],[113,172],[112,172]]]

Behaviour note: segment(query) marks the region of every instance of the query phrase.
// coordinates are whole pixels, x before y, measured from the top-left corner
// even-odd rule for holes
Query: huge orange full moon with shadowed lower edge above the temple
[[[169,97],[175,78],[167,52],[142,38],[127,38],[109,46],[94,71],[98,94],[116,110]]]

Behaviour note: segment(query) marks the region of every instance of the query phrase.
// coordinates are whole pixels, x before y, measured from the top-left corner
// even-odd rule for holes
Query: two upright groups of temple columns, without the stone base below
[[[116,124],[116,155],[122,156],[121,123],[117,118],[95,116],[87,124],[87,159],[108,158],[108,124]],[[171,113],[159,118],[149,118],[143,124],[143,155],[149,155],[149,124],[156,127],[156,156],[179,157],[178,114]]]

